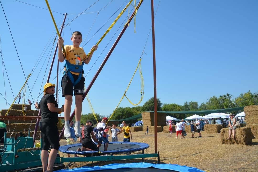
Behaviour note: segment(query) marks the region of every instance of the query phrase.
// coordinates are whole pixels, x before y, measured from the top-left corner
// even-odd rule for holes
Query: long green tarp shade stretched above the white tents
[[[177,113],[177,114],[210,114],[210,113],[219,113],[219,112],[232,112],[244,110],[243,107],[238,108],[229,108],[229,109],[216,109],[216,110],[200,110],[200,111],[157,111],[158,113]],[[147,111],[154,112],[154,111]]]

